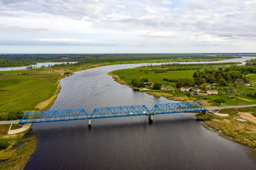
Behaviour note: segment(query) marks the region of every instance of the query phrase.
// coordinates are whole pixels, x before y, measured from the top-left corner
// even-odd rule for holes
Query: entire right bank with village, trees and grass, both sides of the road
[[[255,60],[248,62],[254,63]],[[120,69],[109,74],[135,90],[178,101],[200,101],[204,106],[256,104],[256,67],[253,64],[164,64]],[[228,66],[223,66],[228,65]],[[156,87],[155,87],[156,86]],[[182,92],[181,87],[191,87]],[[218,94],[207,95],[207,90]],[[229,117],[197,114],[204,127],[227,139],[256,149],[256,107],[223,109]],[[242,118],[245,122],[239,121]],[[253,150],[253,153],[256,152]]]

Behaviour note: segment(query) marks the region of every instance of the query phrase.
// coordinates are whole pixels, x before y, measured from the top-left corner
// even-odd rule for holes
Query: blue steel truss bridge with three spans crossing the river
[[[19,124],[88,119],[88,125],[91,125],[93,118],[134,117],[143,115],[148,116],[149,120],[152,121],[153,115],[198,111],[202,111],[202,113],[206,112],[204,105],[200,102],[155,104],[151,110],[148,110],[145,105],[138,105],[95,108],[92,113],[86,113],[84,109],[33,111],[26,113]]]

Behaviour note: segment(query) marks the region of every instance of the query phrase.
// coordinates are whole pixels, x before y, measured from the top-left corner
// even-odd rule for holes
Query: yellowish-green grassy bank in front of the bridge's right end
[[[220,136],[226,137],[250,148],[256,148],[256,107],[228,108],[220,111],[228,113],[230,117],[218,117],[212,114],[196,115],[197,118],[205,120],[204,126],[218,131]],[[242,118],[247,122],[236,120]]]

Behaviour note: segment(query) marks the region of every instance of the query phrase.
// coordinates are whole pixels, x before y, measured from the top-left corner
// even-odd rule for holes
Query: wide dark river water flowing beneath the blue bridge
[[[247,59],[247,58],[246,58]],[[245,60],[240,59],[241,60]],[[61,80],[51,110],[173,103],[120,85],[108,75],[145,64],[104,66]],[[250,150],[202,127],[194,113],[33,125],[38,147],[25,169],[256,169]]]

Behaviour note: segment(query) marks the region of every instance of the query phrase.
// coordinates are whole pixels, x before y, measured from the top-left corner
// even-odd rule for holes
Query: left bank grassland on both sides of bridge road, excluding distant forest
[[[0,71],[0,119],[22,118],[26,111],[46,110],[54,103],[58,81],[74,71],[106,64],[61,64],[37,69]],[[8,135],[10,124],[0,125],[0,169],[23,169],[36,150],[36,136],[21,139],[28,131]],[[12,129],[20,125],[13,124]]]

